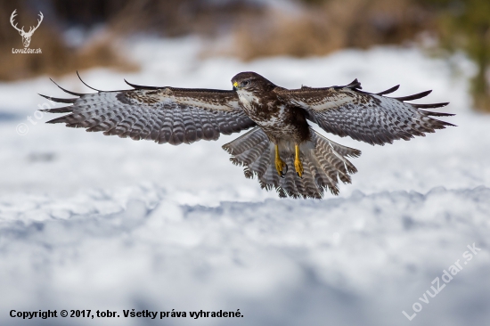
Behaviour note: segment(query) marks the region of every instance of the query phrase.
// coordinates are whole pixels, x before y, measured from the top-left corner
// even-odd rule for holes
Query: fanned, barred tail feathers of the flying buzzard
[[[361,151],[334,143],[310,130],[311,140],[299,146],[304,168],[301,178],[294,169],[294,143],[279,143],[280,156],[288,165],[282,178],[275,169],[274,143],[259,127],[226,143],[223,149],[232,155],[233,164],[244,167],[247,178],[257,176],[263,189],[275,189],[279,197],[321,199],[325,191],[338,195],[339,180],[350,183],[350,175],[357,172],[347,158],[359,157]]]

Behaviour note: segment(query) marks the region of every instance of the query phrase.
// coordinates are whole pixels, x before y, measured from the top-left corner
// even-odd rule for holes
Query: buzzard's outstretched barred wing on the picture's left
[[[219,134],[256,126],[241,110],[234,91],[129,85],[135,89],[94,94],[69,92],[59,86],[78,97],[60,99],[41,95],[54,102],[73,104],[45,110],[69,113],[47,123],[65,123],[86,131],[173,145],[216,140]]]

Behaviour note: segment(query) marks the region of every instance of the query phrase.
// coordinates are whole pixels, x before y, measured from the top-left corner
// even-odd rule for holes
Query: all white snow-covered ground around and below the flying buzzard
[[[372,92],[433,89],[423,102],[452,102],[443,111],[458,126],[384,147],[328,135],[363,151],[353,184],[338,198],[279,200],[229,162],[221,145],[236,135],[173,147],[45,125],[53,116],[35,112],[49,104],[37,93],[64,95],[47,76],[0,84],[0,324],[487,324],[490,117],[470,110],[470,62],[389,47],[247,63],[198,53],[192,38],[136,42],[127,55],[142,62],[139,73],[82,77],[107,90],[127,88],[123,77],[230,88],[243,70],[286,87],[357,77]],[[73,75],[57,81],[88,91]],[[467,260],[473,243],[481,250]],[[461,271],[445,283],[456,262]],[[437,277],[445,287],[430,297]],[[120,317],[26,321],[12,309]],[[125,318],[127,309],[187,317]],[[244,317],[189,316],[200,309]]]

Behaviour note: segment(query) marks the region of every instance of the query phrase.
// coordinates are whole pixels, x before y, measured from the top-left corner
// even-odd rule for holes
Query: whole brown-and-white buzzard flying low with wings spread
[[[223,148],[233,164],[244,167],[247,178],[257,176],[262,188],[275,189],[280,197],[320,199],[326,190],[337,195],[339,180],[350,183],[350,174],[357,171],[347,158],[359,157],[361,151],[332,142],[309,122],[328,133],[372,145],[410,140],[453,126],[431,118],[453,114],[425,110],[447,102],[406,102],[431,91],[387,97],[399,86],[372,94],[363,92],[357,79],[346,86],[286,89],[255,72],[241,72],[232,78],[233,90],[127,84],[133,89],[104,92],[89,86],[97,91],[93,94],[59,86],[77,97],[42,95],[70,104],[45,110],[69,113],[48,123],[173,145],[214,141],[220,134],[252,128]]]

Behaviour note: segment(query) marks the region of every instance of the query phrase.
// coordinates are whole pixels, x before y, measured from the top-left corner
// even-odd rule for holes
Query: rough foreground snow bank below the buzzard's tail
[[[118,325],[145,323],[123,318],[123,309],[175,309],[187,317],[166,324],[394,325],[415,302],[423,308],[417,325],[490,317],[489,188],[214,208],[179,205],[158,188],[132,193],[126,201],[120,193],[80,195],[85,208],[80,198],[63,208],[26,198],[23,212],[11,208],[0,220],[1,323],[25,324],[8,317],[11,309],[109,309],[120,318],[104,324]],[[143,193],[154,200],[143,202]],[[473,244],[481,250],[462,265]],[[422,303],[431,281],[458,259],[461,272]],[[200,309],[240,309],[244,317],[189,317]],[[53,322],[94,321],[29,324]]]

